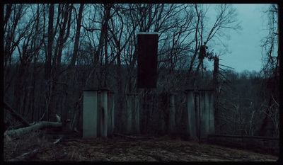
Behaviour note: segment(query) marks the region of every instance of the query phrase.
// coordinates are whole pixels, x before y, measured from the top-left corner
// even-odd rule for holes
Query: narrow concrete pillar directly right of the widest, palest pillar
[[[101,91],[101,115],[100,115],[100,136],[107,137],[108,132],[108,88],[102,88]]]

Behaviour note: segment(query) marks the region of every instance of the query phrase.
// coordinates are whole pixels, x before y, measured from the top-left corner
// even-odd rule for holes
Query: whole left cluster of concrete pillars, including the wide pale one
[[[83,138],[111,136],[114,122],[114,92],[106,87],[83,89]]]

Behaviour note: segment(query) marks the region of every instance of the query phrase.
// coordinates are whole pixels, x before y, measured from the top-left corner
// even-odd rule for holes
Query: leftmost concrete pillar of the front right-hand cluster
[[[185,91],[187,95],[187,123],[186,134],[188,137],[197,140],[197,115],[195,106],[195,97],[193,93],[194,89],[187,89]]]

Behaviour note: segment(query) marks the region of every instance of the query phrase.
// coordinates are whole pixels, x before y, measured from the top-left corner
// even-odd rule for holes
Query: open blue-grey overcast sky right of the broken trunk
[[[262,11],[270,4],[233,4],[238,11],[238,21],[241,21],[241,33],[230,31],[231,39],[225,41],[229,45],[231,54],[222,55],[219,64],[233,67],[236,72],[244,70],[259,72],[262,69],[263,37],[267,35],[264,27]],[[213,47],[212,47],[213,49]],[[214,49],[214,52],[217,50]],[[212,69],[213,62],[207,62],[208,69]],[[224,67],[222,67],[224,68]]]

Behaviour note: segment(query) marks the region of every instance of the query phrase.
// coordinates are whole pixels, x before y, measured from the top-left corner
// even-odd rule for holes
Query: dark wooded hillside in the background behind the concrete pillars
[[[109,67],[115,70],[117,66]],[[4,100],[10,103],[19,114],[26,118],[30,123],[39,120],[56,121],[55,115],[62,116],[64,106],[73,107],[74,111],[69,112],[68,119],[71,120],[69,129],[82,129],[83,111],[83,88],[98,87],[98,75],[90,74],[92,66],[76,66],[75,79],[67,79],[62,73],[61,79],[53,81],[54,90],[50,93],[50,98],[45,96],[46,88],[43,69],[44,64],[30,64],[30,67],[21,72],[18,64],[10,69],[10,74],[6,79],[11,80],[8,90],[4,93]],[[66,68],[62,66],[62,69]],[[6,68],[8,69],[8,68]],[[103,69],[102,69],[103,70]],[[127,67],[122,66],[122,77],[127,76]],[[136,70],[136,69],[135,69]],[[34,74],[33,72],[36,72]],[[180,70],[169,73],[169,69],[158,69],[158,86],[156,89],[134,89],[133,93],[138,93],[140,104],[140,130],[144,134],[164,134],[161,125],[168,120],[166,107],[168,106],[168,94],[175,94],[175,132],[183,134],[185,132],[185,89],[190,88],[189,82],[185,82],[183,76],[178,76]],[[185,71],[183,71],[185,73]],[[197,86],[200,88],[212,87],[212,71],[199,73]],[[18,75],[18,76],[13,76]],[[23,76],[24,75],[24,76]],[[22,79],[20,79],[22,77]],[[134,76],[134,79],[137,77]],[[110,72],[107,84],[115,92],[115,130],[122,131],[125,123],[122,120],[122,110],[125,108],[126,96],[118,92],[117,75]],[[68,82],[70,81],[70,82]],[[171,81],[174,85],[168,90]],[[67,82],[67,83],[66,83]],[[125,84],[122,81],[121,84]],[[221,72],[219,79],[220,94],[217,98],[219,104],[215,111],[215,127],[217,134],[224,135],[262,135],[277,137],[279,130],[279,113],[277,105],[269,105],[270,93],[272,93],[272,82],[263,77],[259,72],[241,72],[233,70]],[[168,84],[169,83],[169,84]],[[273,82],[273,85],[277,85]],[[73,84],[73,86],[67,86]],[[136,82],[132,81],[132,84]],[[71,93],[71,100],[67,100],[67,95]],[[129,93],[129,91],[127,91]],[[52,98],[51,98],[52,97]],[[279,99],[272,94],[275,101]],[[49,111],[47,112],[47,106]],[[267,110],[270,110],[268,112]],[[268,112],[268,113],[267,113]],[[17,122],[5,113],[4,120],[8,120],[11,125]],[[168,127],[168,125],[166,126]],[[166,128],[165,127],[165,128]]]

